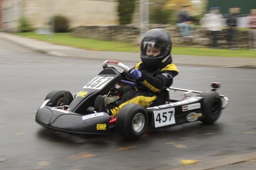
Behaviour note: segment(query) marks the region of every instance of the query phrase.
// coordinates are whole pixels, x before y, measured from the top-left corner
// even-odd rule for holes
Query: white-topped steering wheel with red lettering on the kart
[[[106,67],[110,67],[109,64],[120,67],[121,69],[124,70],[125,73],[129,73],[131,71],[131,69],[129,67],[127,67],[125,64],[122,64],[122,63],[120,63],[118,61],[115,61],[115,60],[106,60],[106,61],[104,61],[102,63],[103,69],[106,68]],[[124,74],[123,73],[121,73],[121,74],[122,74],[122,77],[124,78],[125,77]],[[137,86],[136,81],[130,80],[130,79],[129,79],[129,81],[122,79],[122,80],[120,80],[119,83],[126,84],[128,86],[134,86],[134,87]]]

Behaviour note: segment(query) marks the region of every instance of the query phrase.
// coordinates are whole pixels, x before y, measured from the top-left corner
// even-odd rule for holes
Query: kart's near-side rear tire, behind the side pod
[[[219,94],[215,91],[204,91],[200,94],[203,97],[202,112],[204,119],[200,120],[204,123],[215,122],[221,113],[221,98]]]

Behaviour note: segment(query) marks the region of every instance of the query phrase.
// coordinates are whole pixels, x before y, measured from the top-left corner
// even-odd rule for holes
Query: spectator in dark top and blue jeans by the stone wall
[[[176,23],[180,28],[183,40],[192,37],[191,31],[193,29],[193,24],[192,17],[188,13],[189,8],[189,5],[181,6],[181,11],[178,13],[179,21]]]

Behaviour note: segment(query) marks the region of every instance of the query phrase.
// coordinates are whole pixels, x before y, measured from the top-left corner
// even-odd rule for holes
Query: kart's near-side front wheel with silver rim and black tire
[[[138,104],[126,104],[117,114],[116,126],[118,133],[125,139],[138,139],[147,129],[147,112]]]

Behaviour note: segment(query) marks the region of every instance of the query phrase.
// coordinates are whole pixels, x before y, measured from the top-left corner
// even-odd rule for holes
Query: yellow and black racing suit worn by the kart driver
[[[133,69],[138,69],[142,73],[141,78],[137,80],[139,85],[137,87],[118,88],[121,98],[106,106],[110,115],[118,114],[119,110],[128,103],[140,104],[144,108],[147,108],[157,99],[158,94],[163,89],[172,85],[173,77],[179,72],[173,63],[167,64],[159,69],[149,70],[143,66],[142,62],[139,62]]]

